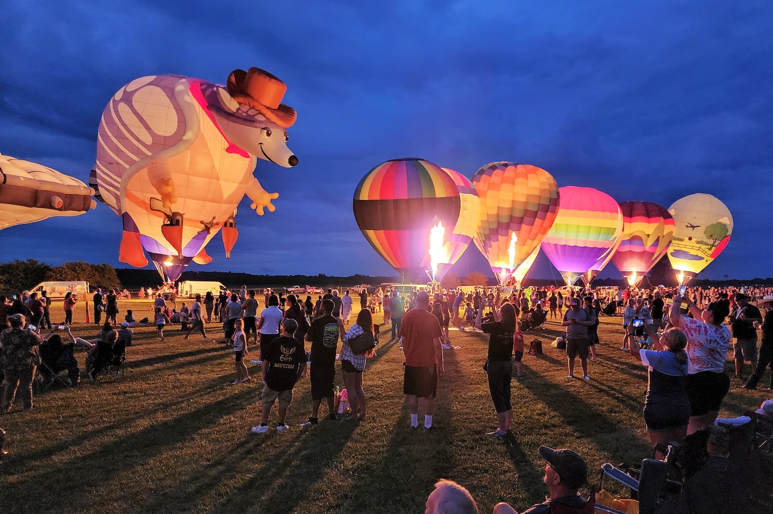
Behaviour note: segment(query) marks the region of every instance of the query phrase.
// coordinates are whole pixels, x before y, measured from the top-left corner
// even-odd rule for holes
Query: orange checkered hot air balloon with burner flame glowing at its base
[[[558,211],[556,179],[542,168],[492,162],[472,177],[480,199],[478,238],[501,281],[540,246]]]

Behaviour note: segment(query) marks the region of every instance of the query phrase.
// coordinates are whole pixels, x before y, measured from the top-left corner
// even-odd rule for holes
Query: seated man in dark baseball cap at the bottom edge
[[[544,503],[533,505],[531,509],[523,511],[523,514],[549,514],[551,504],[581,512],[589,501],[577,493],[577,489],[587,482],[587,464],[584,459],[574,451],[553,450],[547,446],[540,446],[540,455],[547,461],[543,482],[547,485],[550,495]],[[593,512],[592,505],[590,512]],[[493,514],[518,512],[507,503],[501,502],[494,505]]]

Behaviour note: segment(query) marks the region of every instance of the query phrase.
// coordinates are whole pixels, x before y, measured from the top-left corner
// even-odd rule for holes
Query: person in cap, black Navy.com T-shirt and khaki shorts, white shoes
[[[306,369],[306,349],[303,342],[293,337],[295,325],[294,319],[282,320],[282,335],[271,341],[264,356],[262,366],[266,383],[261,397],[263,410],[261,424],[250,429],[253,434],[265,434],[268,431],[268,414],[271,413],[271,407],[277,400],[279,400],[277,431],[284,431],[287,427],[284,424],[284,417],[292,402],[292,390],[298,380],[301,380]]]

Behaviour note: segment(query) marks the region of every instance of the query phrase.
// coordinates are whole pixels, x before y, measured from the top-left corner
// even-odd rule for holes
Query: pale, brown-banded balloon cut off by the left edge
[[[0,229],[51,216],[78,216],[97,205],[94,189],[36,162],[0,155]]]

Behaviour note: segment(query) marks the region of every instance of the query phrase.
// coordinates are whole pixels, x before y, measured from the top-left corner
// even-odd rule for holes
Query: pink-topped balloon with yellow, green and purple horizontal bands
[[[560,190],[556,222],[542,242],[553,266],[572,285],[614,251],[623,230],[623,215],[615,199],[589,187]]]

